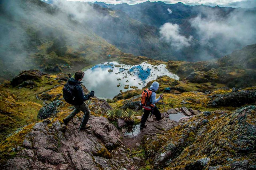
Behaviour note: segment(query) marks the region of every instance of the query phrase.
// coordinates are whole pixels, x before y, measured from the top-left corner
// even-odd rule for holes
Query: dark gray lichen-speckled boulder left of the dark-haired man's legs
[[[62,104],[63,102],[60,100],[55,100],[52,103],[42,107],[37,114],[37,118],[39,119],[46,119],[48,117],[52,117],[57,113],[58,107]]]

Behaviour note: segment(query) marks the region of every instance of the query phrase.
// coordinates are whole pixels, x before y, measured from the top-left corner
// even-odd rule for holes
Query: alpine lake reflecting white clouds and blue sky
[[[178,75],[169,72],[166,65],[151,65],[143,62],[139,65],[125,65],[117,62],[105,62],[84,71],[82,84],[95,96],[102,99],[112,99],[120,91],[142,89],[157,76],[167,75],[179,80]]]

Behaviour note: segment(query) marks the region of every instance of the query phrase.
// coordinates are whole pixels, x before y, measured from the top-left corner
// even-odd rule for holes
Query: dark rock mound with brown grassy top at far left
[[[42,78],[42,75],[45,74],[39,70],[22,71],[19,75],[13,78],[11,85],[15,87],[27,80],[39,80]]]

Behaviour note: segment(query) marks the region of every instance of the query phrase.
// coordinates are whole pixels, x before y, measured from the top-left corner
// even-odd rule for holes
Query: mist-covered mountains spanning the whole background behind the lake
[[[254,8],[64,0],[6,0],[0,8],[3,73],[35,65],[88,65],[124,53],[200,61],[256,43]]]

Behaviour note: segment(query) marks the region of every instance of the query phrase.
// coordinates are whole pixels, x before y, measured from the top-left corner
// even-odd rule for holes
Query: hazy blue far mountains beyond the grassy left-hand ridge
[[[47,1],[47,3],[52,2],[53,0]],[[92,3],[89,4],[92,5]],[[227,32],[237,30],[235,26],[239,22],[245,22],[241,23],[245,26],[239,28],[239,31],[234,34],[240,34],[242,30],[246,30],[247,26],[250,27],[248,31],[251,32],[253,27],[256,27],[256,17],[253,17],[253,15],[256,16],[255,8],[188,6],[181,2],[166,4],[161,1],[147,1],[136,5],[94,2],[93,8],[103,15],[110,16],[108,21],[101,20],[97,23],[94,20],[90,24],[94,25],[93,31],[108,43],[134,55],[161,60],[198,61],[219,58],[235,49],[256,43],[255,33],[251,33],[248,40],[245,37],[241,40],[243,35],[240,38],[227,35]],[[115,17],[111,15],[113,13]],[[232,17],[236,17],[237,21],[233,21]],[[247,18],[248,22],[244,18]],[[221,21],[222,25],[215,25],[218,21]],[[229,21],[231,22],[228,23]],[[165,32],[161,32],[161,28],[166,23],[171,23],[170,28],[166,25]],[[172,29],[174,24],[178,24],[178,28],[173,31],[176,35],[168,35],[170,32],[168,29]],[[232,27],[228,28],[230,31],[228,29],[226,31],[225,27],[229,25]],[[218,27],[224,27],[220,29],[226,32],[221,32]],[[169,36],[166,41],[165,36]],[[190,36],[192,39],[189,39]],[[208,39],[205,40],[205,37]],[[187,41],[185,46],[182,46],[183,40]],[[175,43],[178,44],[178,48],[177,45],[173,45]]]

